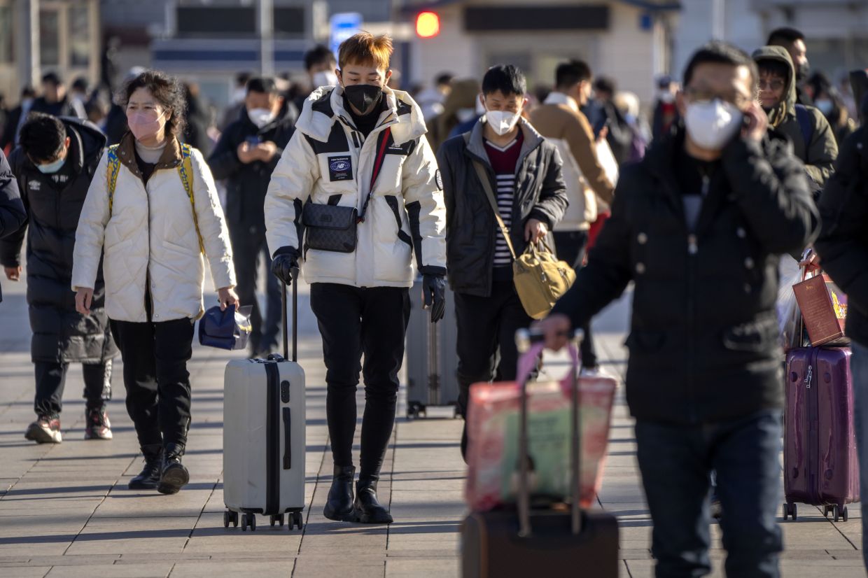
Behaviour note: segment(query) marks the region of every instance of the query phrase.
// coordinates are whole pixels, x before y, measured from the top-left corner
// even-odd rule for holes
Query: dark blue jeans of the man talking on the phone
[[[657,578],[711,572],[711,470],[717,471],[723,510],[727,576],[779,575],[780,422],[780,411],[696,426],[636,422],[636,456],[654,522]]]

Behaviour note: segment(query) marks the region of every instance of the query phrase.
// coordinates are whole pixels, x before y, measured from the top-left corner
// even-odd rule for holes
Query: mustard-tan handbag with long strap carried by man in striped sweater
[[[482,183],[485,196],[488,197],[491,210],[494,211],[497,226],[510,247],[513,259],[512,282],[516,285],[518,299],[521,299],[524,311],[531,318],[542,319],[549,314],[557,299],[573,285],[575,270],[566,261],[558,260],[544,241],[529,243],[524,253],[516,255],[510,240],[510,229],[506,227],[497,210],[497,200],[485,167],[479,161],[473,161],[473,167]]]

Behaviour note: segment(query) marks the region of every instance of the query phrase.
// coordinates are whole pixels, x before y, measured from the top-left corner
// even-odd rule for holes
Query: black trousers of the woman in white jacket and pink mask
[[[141,446],[187,443],[193,327],[186,318],[160,323],[111,320],[123,359],[127,413]]]

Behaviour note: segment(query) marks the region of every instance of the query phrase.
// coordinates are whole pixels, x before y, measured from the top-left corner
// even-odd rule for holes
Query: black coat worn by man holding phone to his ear
[[[779,408],[779,255],[819,233],[789,145],[724,148],[690,233],[674,163],[681,129],[628,165],[575,284],[553,312],[581,327],[635,282],[626,391],[638,419],[703,424]]]

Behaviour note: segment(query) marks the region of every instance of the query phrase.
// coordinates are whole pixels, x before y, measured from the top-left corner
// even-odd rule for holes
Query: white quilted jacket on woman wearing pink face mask
[[[106,312],[117,321],[148,321],[145,287],[150,284],[155,322],[198,319],[204,311],[205,262],[193,221],[193,207],[181,183],[178,141],[169,141],[145,185],[135,166],[134,141],[118,148],[121,168],[109,214],[107,154],[88,189],[76,229],[72,286],[93,287],[100,255]],[[229,233],[214,178],[201,153],[192,151],[194,200],[199,230],[214,286],[235,285]]]

